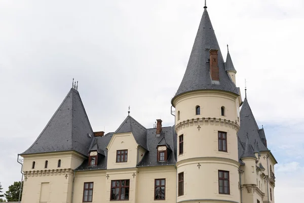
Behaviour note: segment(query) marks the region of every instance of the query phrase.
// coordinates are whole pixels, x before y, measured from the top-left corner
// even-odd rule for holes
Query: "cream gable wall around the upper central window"
[[[132,132],[113,134],[107,146],[107,168],[130,168],[137,165],[137,147]],[[116,162],[117,150],[128,150],[127,162]]]

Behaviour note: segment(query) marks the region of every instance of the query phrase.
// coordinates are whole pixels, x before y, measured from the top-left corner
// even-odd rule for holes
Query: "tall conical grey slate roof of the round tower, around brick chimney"
[[[218,50],[220,84],[211,83],[210,63],[206,61],[206,59],[210,59],[210,49]],[[239,94],[237,87],[225,71],[224,60],[206,8],[200,22],[187,69],[174,97],[185,92],[203,89],[217,89]]]

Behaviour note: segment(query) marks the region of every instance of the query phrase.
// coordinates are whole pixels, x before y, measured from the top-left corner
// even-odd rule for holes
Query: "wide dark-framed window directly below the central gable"
[[[130,180],[111,181],[111,200],[129,199]]]

